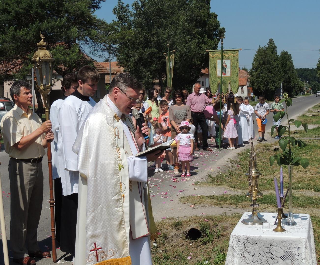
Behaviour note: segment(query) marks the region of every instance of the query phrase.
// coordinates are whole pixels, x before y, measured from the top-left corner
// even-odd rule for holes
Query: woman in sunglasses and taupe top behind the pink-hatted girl
[[[181,121],[191,121],[191,110],[188,105],[184,105],[184,96],[182,91],[177,90],[173,93],[173,103],[169,109],[169,120],[171,124],[171,139],[181,132],[179,126]],[[173,163],[177,161],[177,148],[172,147]],[[178,169],[174,169],[174,174],[179,174]]]

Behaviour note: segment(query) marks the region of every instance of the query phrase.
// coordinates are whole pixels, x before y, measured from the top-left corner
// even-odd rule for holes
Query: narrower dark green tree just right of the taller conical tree
[[[291,54],[282,51],[279,56],[279,72],[282,81],[283,92],[287,92],[290,97],[297,94],[299,90],[299,79],[294,69]]]

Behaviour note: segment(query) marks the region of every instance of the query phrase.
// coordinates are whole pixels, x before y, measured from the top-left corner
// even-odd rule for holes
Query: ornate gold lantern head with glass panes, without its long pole
[[[34,53],[31,61],[34,64],[36,72],[37,89],[43,96],[44,106],[47,109],[49,108],[48,95],[52,88],[52,64],[54,58],[52,57],[52,53],[46,49],[47,43],[44,42],[44,35],[41,32],[40,37],[41,41],[37,43],[38,50]]]

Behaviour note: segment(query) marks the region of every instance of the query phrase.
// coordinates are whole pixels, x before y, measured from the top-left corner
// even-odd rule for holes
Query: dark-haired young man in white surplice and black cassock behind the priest
[[[62,157],[61,233],[60,250],[75,257],[76,222],[78,209],[79,171],[77,155],[72,151],[77,133],[96,102],[92,96],[98,90],[99,72],[92,66],[83,66],[77,74],[78,87],[67,97],[60,110],[58,150]],[[73,258],[74,259],[74,258]]]

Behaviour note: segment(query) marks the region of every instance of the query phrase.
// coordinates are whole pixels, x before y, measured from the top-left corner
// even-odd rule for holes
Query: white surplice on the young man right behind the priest
[[[62,195],[78,193],[79,171],[77,155],[72,152],[72,145],[77,133],[96,102],[89,97],[89,101],[70,95],[62,103],[59,115],[60,130],[58,135],[58,150],[61,152],[64,174],[61,174]]]

